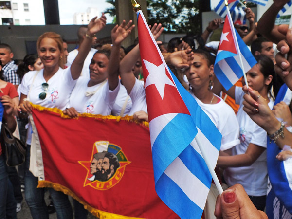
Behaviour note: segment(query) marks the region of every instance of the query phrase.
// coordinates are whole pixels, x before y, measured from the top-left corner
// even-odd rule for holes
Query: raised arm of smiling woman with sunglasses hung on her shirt
[[[71,75],[74,80],[81,74],[84,60],[91,49],[92,38],[98,31],[102,30],[106,26],[106,19],[106,16],[102,14],[102,16],[98,19],[97,17],[92,18],[88,24],[86,36],[84,37],[84,40],[79,47],[79,52],[70,67]]]

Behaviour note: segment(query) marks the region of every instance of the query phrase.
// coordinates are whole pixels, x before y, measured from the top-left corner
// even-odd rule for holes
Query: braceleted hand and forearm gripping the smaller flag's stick
[[[243,110],[257,125],[265,129],[268,135],[276,133],[281,128],[281,122],[277,120],[272,110],[270,110],[266,100],[259,94],[259,92],[253,90],[251,87],[247,89],[247,87],[244,86],[243,90],[250,93],[250,95],[244,95]],[[292,147],[292,133],[286,128],[284,128],[283,133],[284,138],[279,136],[276,140],[277,146],[281,149],[285,145]]]

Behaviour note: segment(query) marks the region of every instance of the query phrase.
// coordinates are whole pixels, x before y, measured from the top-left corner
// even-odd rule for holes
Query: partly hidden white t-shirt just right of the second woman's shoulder
[[[126,107],[125,107],[125,104],[126,104]],[[125,115],[129,114],[129,112],[131,111],[131,108],[132,108],[132,100],[131,100],[130,96],[128,95],[125,86],[120,84],[120,90],[119,90],[118,96],[116,98],[116,101],[113,105],[113,108],[111,110],[111,114],[114,116],[119,116],[121,113],[121,110],[124,107],[125,107],[125,111],[124,111],[123,115],[121,115],[121,116],[125,116]]]

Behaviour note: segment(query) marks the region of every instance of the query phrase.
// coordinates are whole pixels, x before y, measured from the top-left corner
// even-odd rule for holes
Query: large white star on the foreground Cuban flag
[[[165,84],[169,84],[175,87],[172,81],[166,76],[164,64],[162,63],[160,66],[156,66],[145,59],[143,59],[143,61],[146,69],[149,72],[149,75],[147,76],[147,79],[145,81],[145,88],[151,84],[154,84],[161,96],[161,99],[163,99]]]

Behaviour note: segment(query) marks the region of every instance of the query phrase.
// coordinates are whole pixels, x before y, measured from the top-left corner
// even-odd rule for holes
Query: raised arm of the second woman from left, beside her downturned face
[[[120,65],[120,48],[121,43],[126,39],[135,25],[132,25],[132,20],[126,25],[123,20],[121,25],[116,25],[111,31],[112,48],[110,53],[110,61],[108,65],[108,83],[110,90],[113,91],[119,83],[119,65]]]

